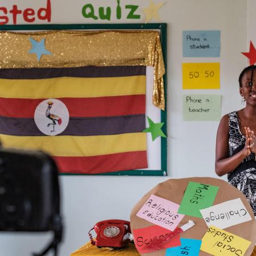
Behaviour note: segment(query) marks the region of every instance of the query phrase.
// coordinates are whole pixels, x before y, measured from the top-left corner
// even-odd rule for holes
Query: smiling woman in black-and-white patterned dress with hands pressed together
[[[240,74],[240,94],[245,108],[224,115],[216,140],[215,170],[228,174],[228,181],[249,201],[256,216],[256,66]]]

